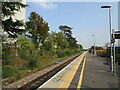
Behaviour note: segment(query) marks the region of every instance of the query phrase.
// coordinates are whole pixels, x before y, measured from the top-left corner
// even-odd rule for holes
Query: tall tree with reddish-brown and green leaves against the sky
[[[44,40],[48,36],[48,23],[36,12],[31,12],[26,25],[26,29],[28,30],[27,36],[32,38],[36,48],[38,48],[40,44],[43,45]]]

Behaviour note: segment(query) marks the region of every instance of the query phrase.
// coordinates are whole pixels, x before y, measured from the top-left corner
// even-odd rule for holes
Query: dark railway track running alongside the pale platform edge
[[[63,69],[65,66],[67,66],[70,62],[72,62],[75,58],[77,58],[81,54],[82,54],[82,52],[80,54],[72,57],[68,61],[60,64],[58,67],[56,67],[56,68],[48,71],[47,73],[41,75],[40,77],[36,78],[35,80],[33,80],[33,81],[25,84],[24,86],[18,88],[17,90],[35,90],[35,89],[37,89],[40,85],[45,83],[48,79],[50,79],[53,75],[58,73],[61,69]]]

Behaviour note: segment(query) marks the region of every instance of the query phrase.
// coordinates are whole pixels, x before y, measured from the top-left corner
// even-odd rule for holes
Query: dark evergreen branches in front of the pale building
[[[16,12],[20,11],[20,8],[25,8],[26,6],[20,2],[2,2],[2,27],[9,34],[9,37],[15,38],[24,31],[23,21],[15,20],[13,17]]]

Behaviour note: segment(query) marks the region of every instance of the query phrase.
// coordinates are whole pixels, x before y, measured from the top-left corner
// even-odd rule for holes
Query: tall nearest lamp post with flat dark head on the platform
[[[101,6],[101,8],[109,8],[109,26],[110,26],[110,48],[111,48],[111,71],[113,71],[113,52],[112,52],[112,22],[111,22],[111,6]]]

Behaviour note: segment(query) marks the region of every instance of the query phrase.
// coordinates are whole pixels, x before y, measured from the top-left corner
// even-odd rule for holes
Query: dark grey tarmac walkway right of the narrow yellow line
[[[87,53],[81,88],[119,90],[118,76],[114,76],[106,58]]]

